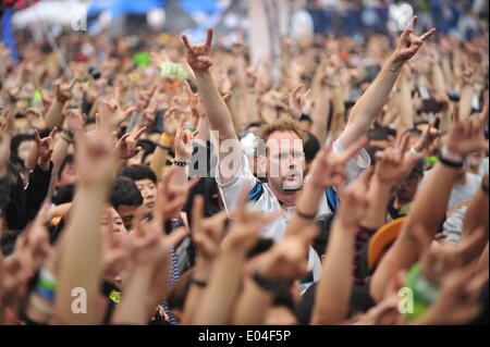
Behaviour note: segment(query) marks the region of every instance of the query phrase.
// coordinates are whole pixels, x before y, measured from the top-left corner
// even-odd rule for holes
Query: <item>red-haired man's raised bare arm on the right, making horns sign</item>
[[[339,138],[344,148],[367,134],[375,117],[378,116],[387,102],[403,65],[418,52],[424,41],[436,33],[436,29],[432,28],[417,37],[413,34],[416,23],[417,16],[414,16],[403,32],[396,50],[388,59],[378,77],[354,106],[347,126]]]

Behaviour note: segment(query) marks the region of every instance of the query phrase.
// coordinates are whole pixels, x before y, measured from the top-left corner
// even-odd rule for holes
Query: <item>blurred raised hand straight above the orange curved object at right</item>
[[[405,134],[396,147],[389,147],[376,153],[375,177],[379,182],[395,186],[409,174],[417,161],[422,158],[406,152],[409,137],[409,134]]]

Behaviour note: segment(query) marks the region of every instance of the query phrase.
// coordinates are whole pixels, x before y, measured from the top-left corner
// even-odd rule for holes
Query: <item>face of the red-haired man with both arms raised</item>
[[[292,132],[274,132],[267,140],[267,177],[282,191],[296,191],[303,186],[305,152],[303,140]]]

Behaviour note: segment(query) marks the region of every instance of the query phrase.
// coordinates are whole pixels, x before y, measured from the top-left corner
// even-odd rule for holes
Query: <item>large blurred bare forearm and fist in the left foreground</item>
[[[65,231],[57,292],[56,319],[61,324],[98,323],[96,298],[102,257],[100,224],[117,158],[112,128],[110,120],[106,120],[90,137],[82,132],[77,134],[79,190]],[[72,310],[74,288],[85,289],[86,314],[76,314]]]

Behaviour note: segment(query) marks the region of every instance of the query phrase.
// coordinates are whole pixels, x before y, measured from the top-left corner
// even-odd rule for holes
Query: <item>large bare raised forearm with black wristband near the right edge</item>
[[[454,124],[446,145],[441,150],[441,159],[418,193],[400,236],[372,276],[370,292],[375,300],[382,299],[383,288],[399,270],[408,269],[417,261],[419,249],[412,232],[414,226],[420,224],[430,237],[438,232],[445,214],[451,189],[465,157],[471,152],[488,149],[488,141],[482,131],[483,122],[483,117],[479,116],[456,121]]]

